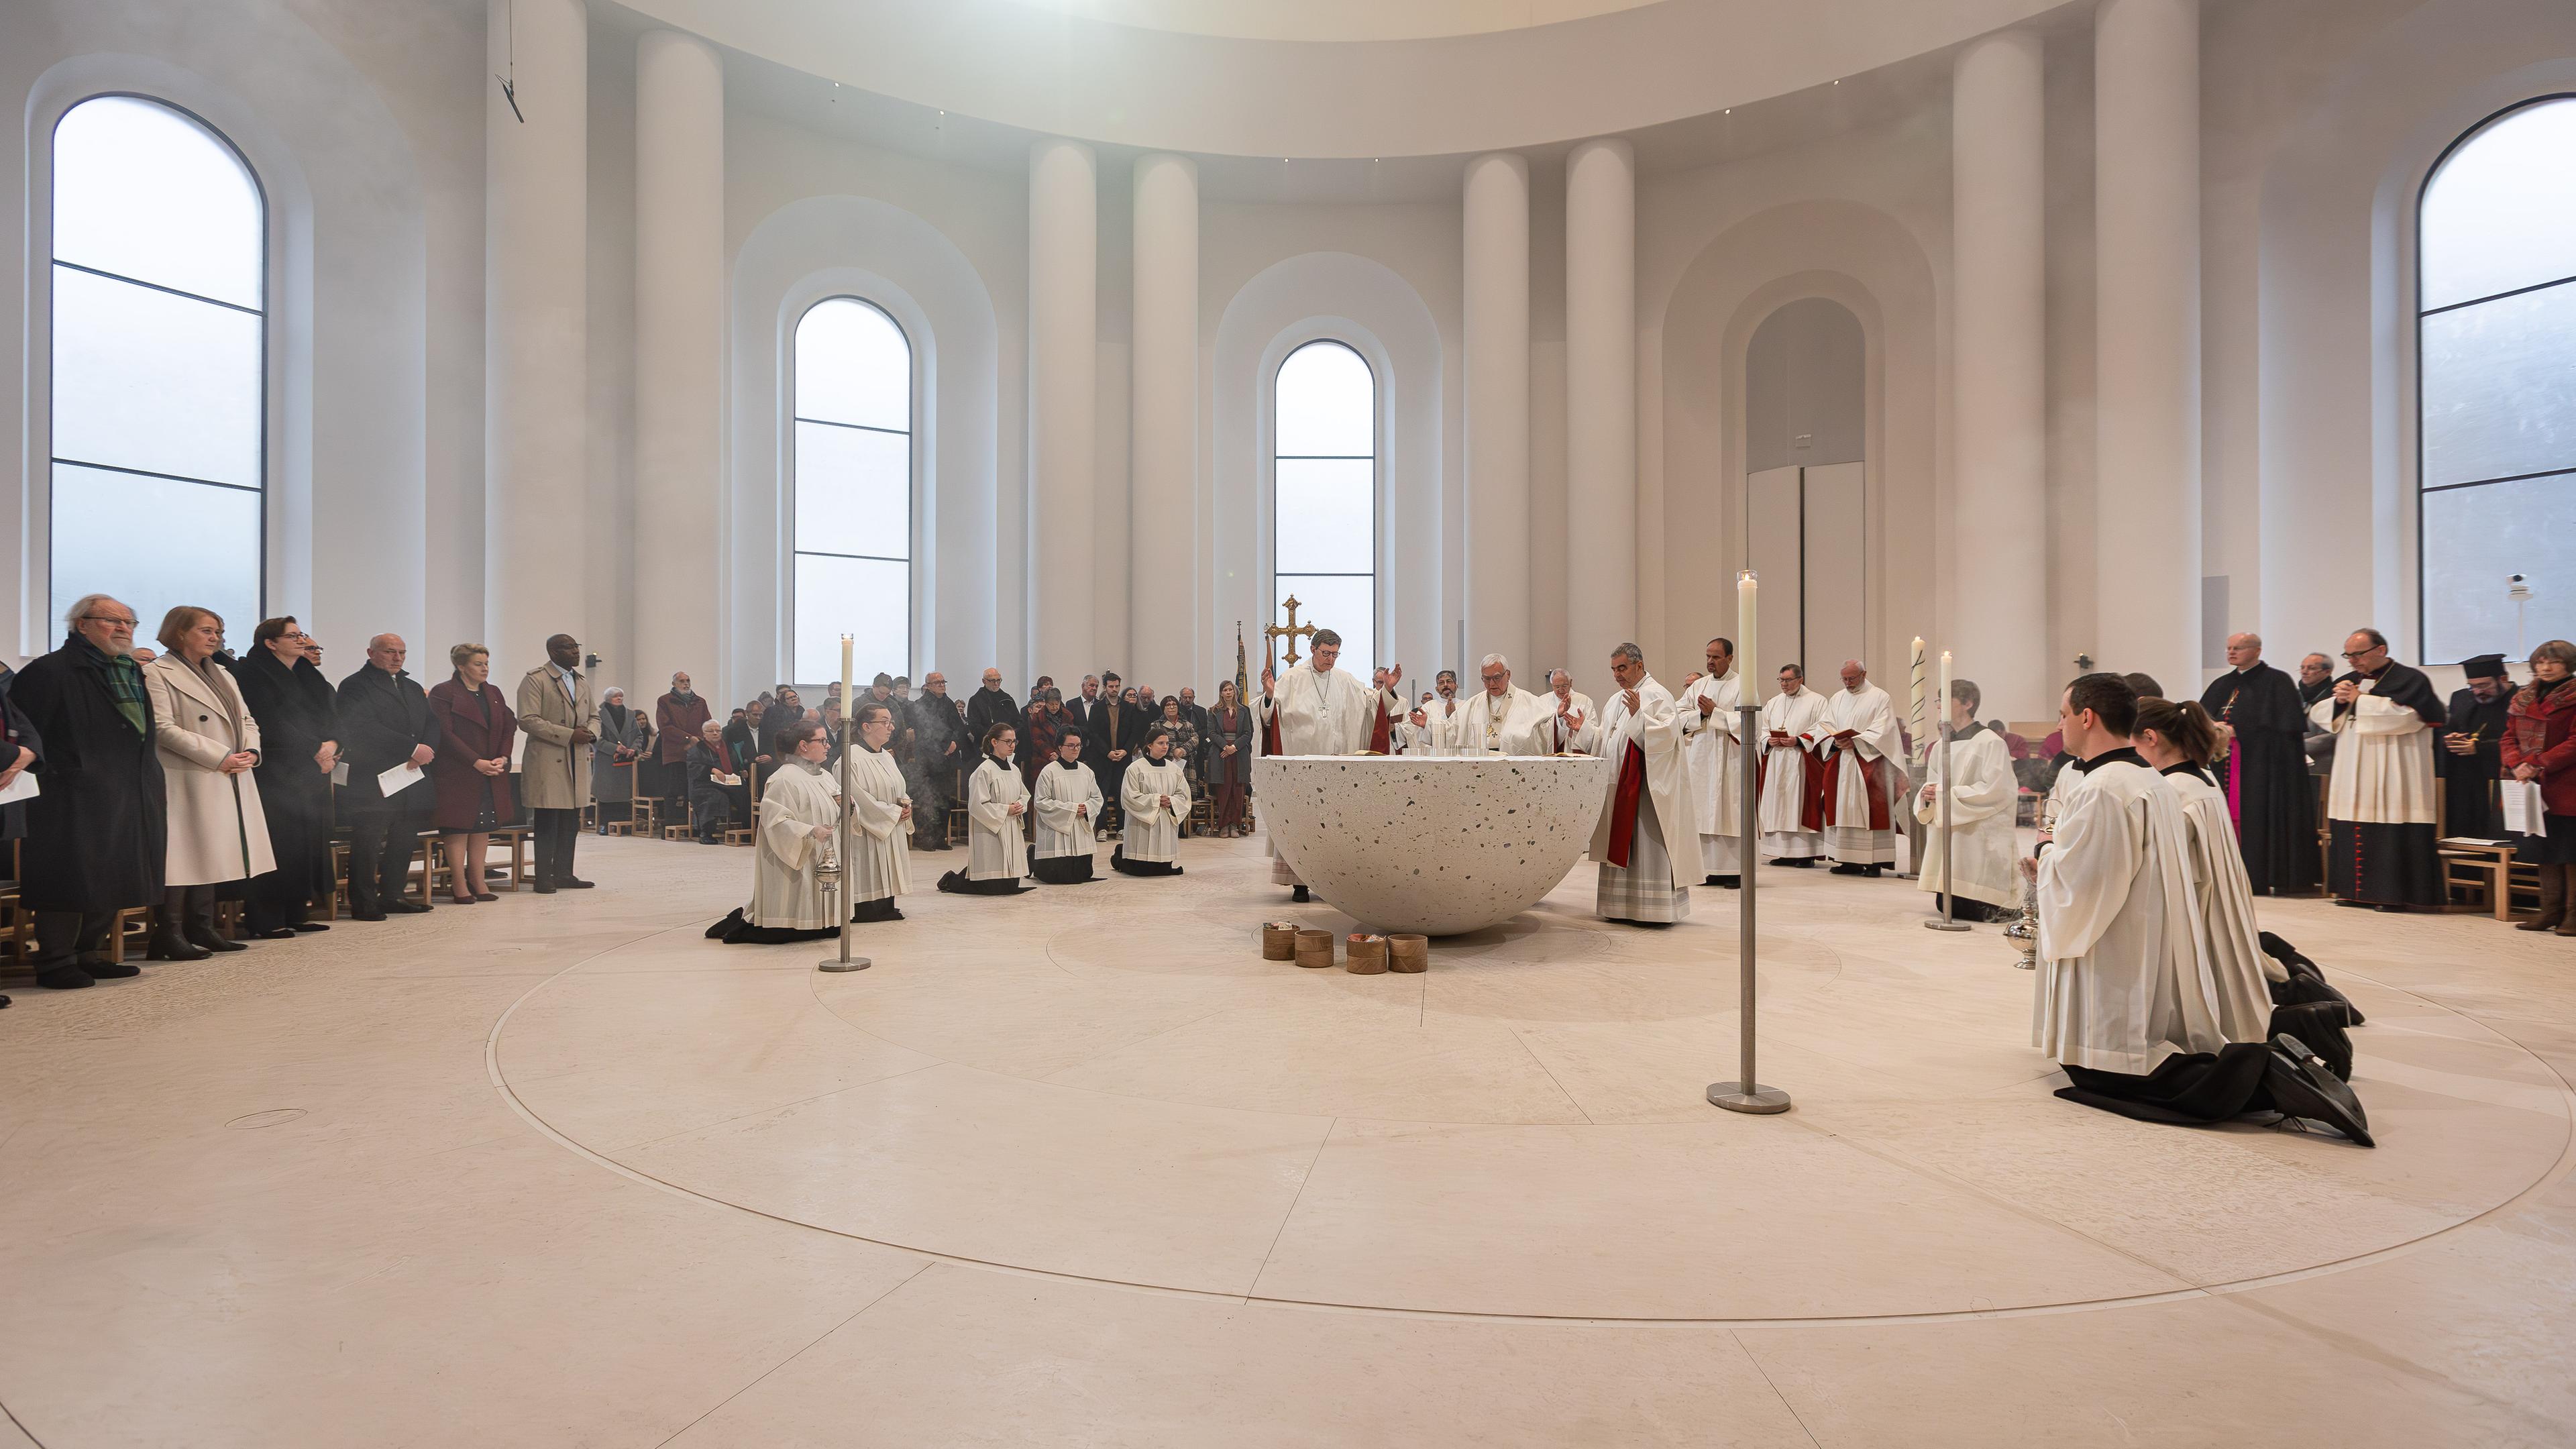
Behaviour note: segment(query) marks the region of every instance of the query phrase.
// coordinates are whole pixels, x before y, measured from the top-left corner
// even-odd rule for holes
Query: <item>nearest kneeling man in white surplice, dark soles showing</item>
[[[2182,802],[2130,745],[2138,694],[2089,673],[2058,704],[2066,753],[2058,820],[2025,861],[2038,882],[2040,977],[2030,1042],[2071,1085],[2058,1096],[2138,1122],[2226,1122],[2246,1111],[2318,1119],[2370,1145],[2362,1104],[2295,1036],[2246,1039],[2200,936]]]

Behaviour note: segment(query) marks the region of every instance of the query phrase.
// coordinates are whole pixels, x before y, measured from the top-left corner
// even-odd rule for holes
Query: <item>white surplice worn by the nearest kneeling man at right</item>
[[[2040,980],[2030,1044],[2058,1062],[2146,1075],[2228,1044],[2200,959],[2182,799],[2136,755],[2066,766],[2040,853]]]

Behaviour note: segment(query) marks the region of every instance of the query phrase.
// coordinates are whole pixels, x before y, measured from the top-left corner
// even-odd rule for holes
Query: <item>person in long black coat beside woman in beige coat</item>
[[[252,877],[242,926],[255,941],[286,941],[299,931],[330,931],[312,920],[335,913],[337,882],[330,864],[330,776],[340,763],[340,704],[322,670],[304,657],[304,627],[294,616],[260,619],[250,652],[232,665],[242,706],[260,722],[260,815],[268,817],[268,856],[278,869]]]

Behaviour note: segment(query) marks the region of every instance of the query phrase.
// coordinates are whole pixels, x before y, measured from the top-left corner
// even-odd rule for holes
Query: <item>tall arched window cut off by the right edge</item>
[[[2576,95],[2460,137],[2419,214],[2424,657],[2576,637]],[[2527,601],[2512,575],[2524,575]]]

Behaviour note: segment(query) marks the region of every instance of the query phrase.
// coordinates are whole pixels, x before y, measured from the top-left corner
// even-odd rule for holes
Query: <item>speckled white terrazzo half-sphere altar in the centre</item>
[[[1370,931],[1455,936],[1538,905],[1592,843],[1597,758],[1262,755],[1270,843]]]

